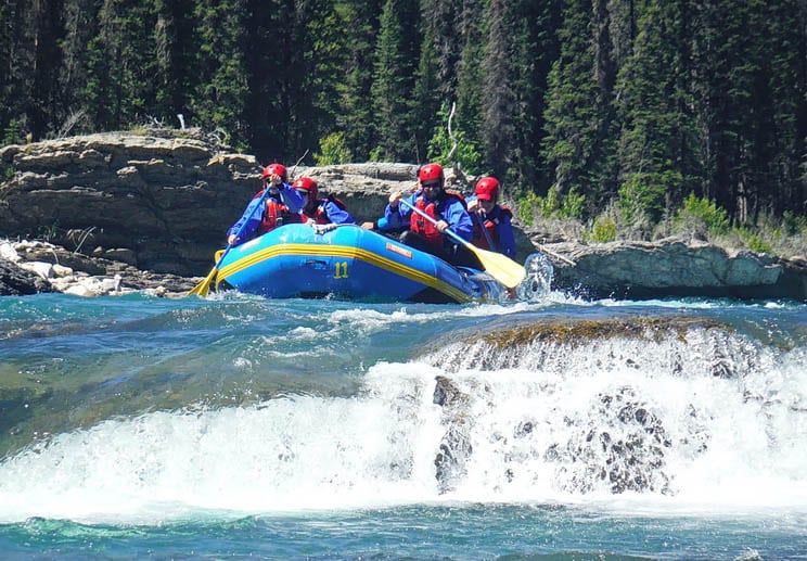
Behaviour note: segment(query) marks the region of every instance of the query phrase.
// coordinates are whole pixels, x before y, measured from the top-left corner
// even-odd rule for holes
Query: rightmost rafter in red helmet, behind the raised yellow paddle
[[[473,196],[467,199],[467,211],[474,218],[474,245],[483,250],[503,253],[515,259],[516,246],[513,234],[513,213],[499,204],[499,180],[483,177],[476,182]]]

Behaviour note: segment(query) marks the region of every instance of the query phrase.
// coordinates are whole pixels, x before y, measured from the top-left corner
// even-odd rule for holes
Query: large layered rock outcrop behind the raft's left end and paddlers
[[[99,133],[0,149],[0,235],[46,239],[139,269],[206,273],[225,232],[260,189],[260,164],[198,131]],[[296,168],[373,219],[415,166]]]

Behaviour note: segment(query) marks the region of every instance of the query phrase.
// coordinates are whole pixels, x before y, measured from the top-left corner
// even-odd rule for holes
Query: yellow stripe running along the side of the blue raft
[[[222,280],[226,280],[227,277],[235,275],[236,272],[249,268],[260,262],[280,257],[282,255],[316,255],[320,257],[347,257],[359,259],[389,272],[394,272],[407,279],[413,280],[415,282],[420,282],[421,284],[425,284],[426,286],[446,294],[457,302],[470,302],[472,299],[461,290],[458,290],[449,283],[441,281],[437,277],[425,273],[412,267],[408,267],[400,263],[396,263],[392,259],[387,259],[386,257],[383,257],[377,253],[369,252],[360,247],[354,247],[351,245],[317,245],[307,243],[283,243],[272,245],[270,247],[266,247],[251,255],[247,255],[246,257],[242,257],[241,259],[238,259],[226,267],[222,267],[219,270],[216,283],[218,284]]]

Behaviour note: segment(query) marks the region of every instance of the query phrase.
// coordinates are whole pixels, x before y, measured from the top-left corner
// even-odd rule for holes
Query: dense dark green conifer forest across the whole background
[[[807,215],[804,0],[0,0],[0,27],[3,145],[184,123],[584,219]]]

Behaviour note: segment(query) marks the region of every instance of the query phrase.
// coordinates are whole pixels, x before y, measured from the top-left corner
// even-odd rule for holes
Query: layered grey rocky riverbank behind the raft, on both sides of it
[[[291,166],[290,166],[291,167]],[[260,164],[198,130],[103,133],[0,149],[0,295],[184,294],[213,266],[223,232],[258,190]],[[297,167],[358,221],[414,186],[410,164]],[[453,176],[453,187],[470,186]],[[807,259],[780,259],[683,239],[540,243],[553,289],[584,297],[712,296],[807,301]],[[17,241],[10,241],[17,240]],[[39,241],[28,241],[39,240]]]

